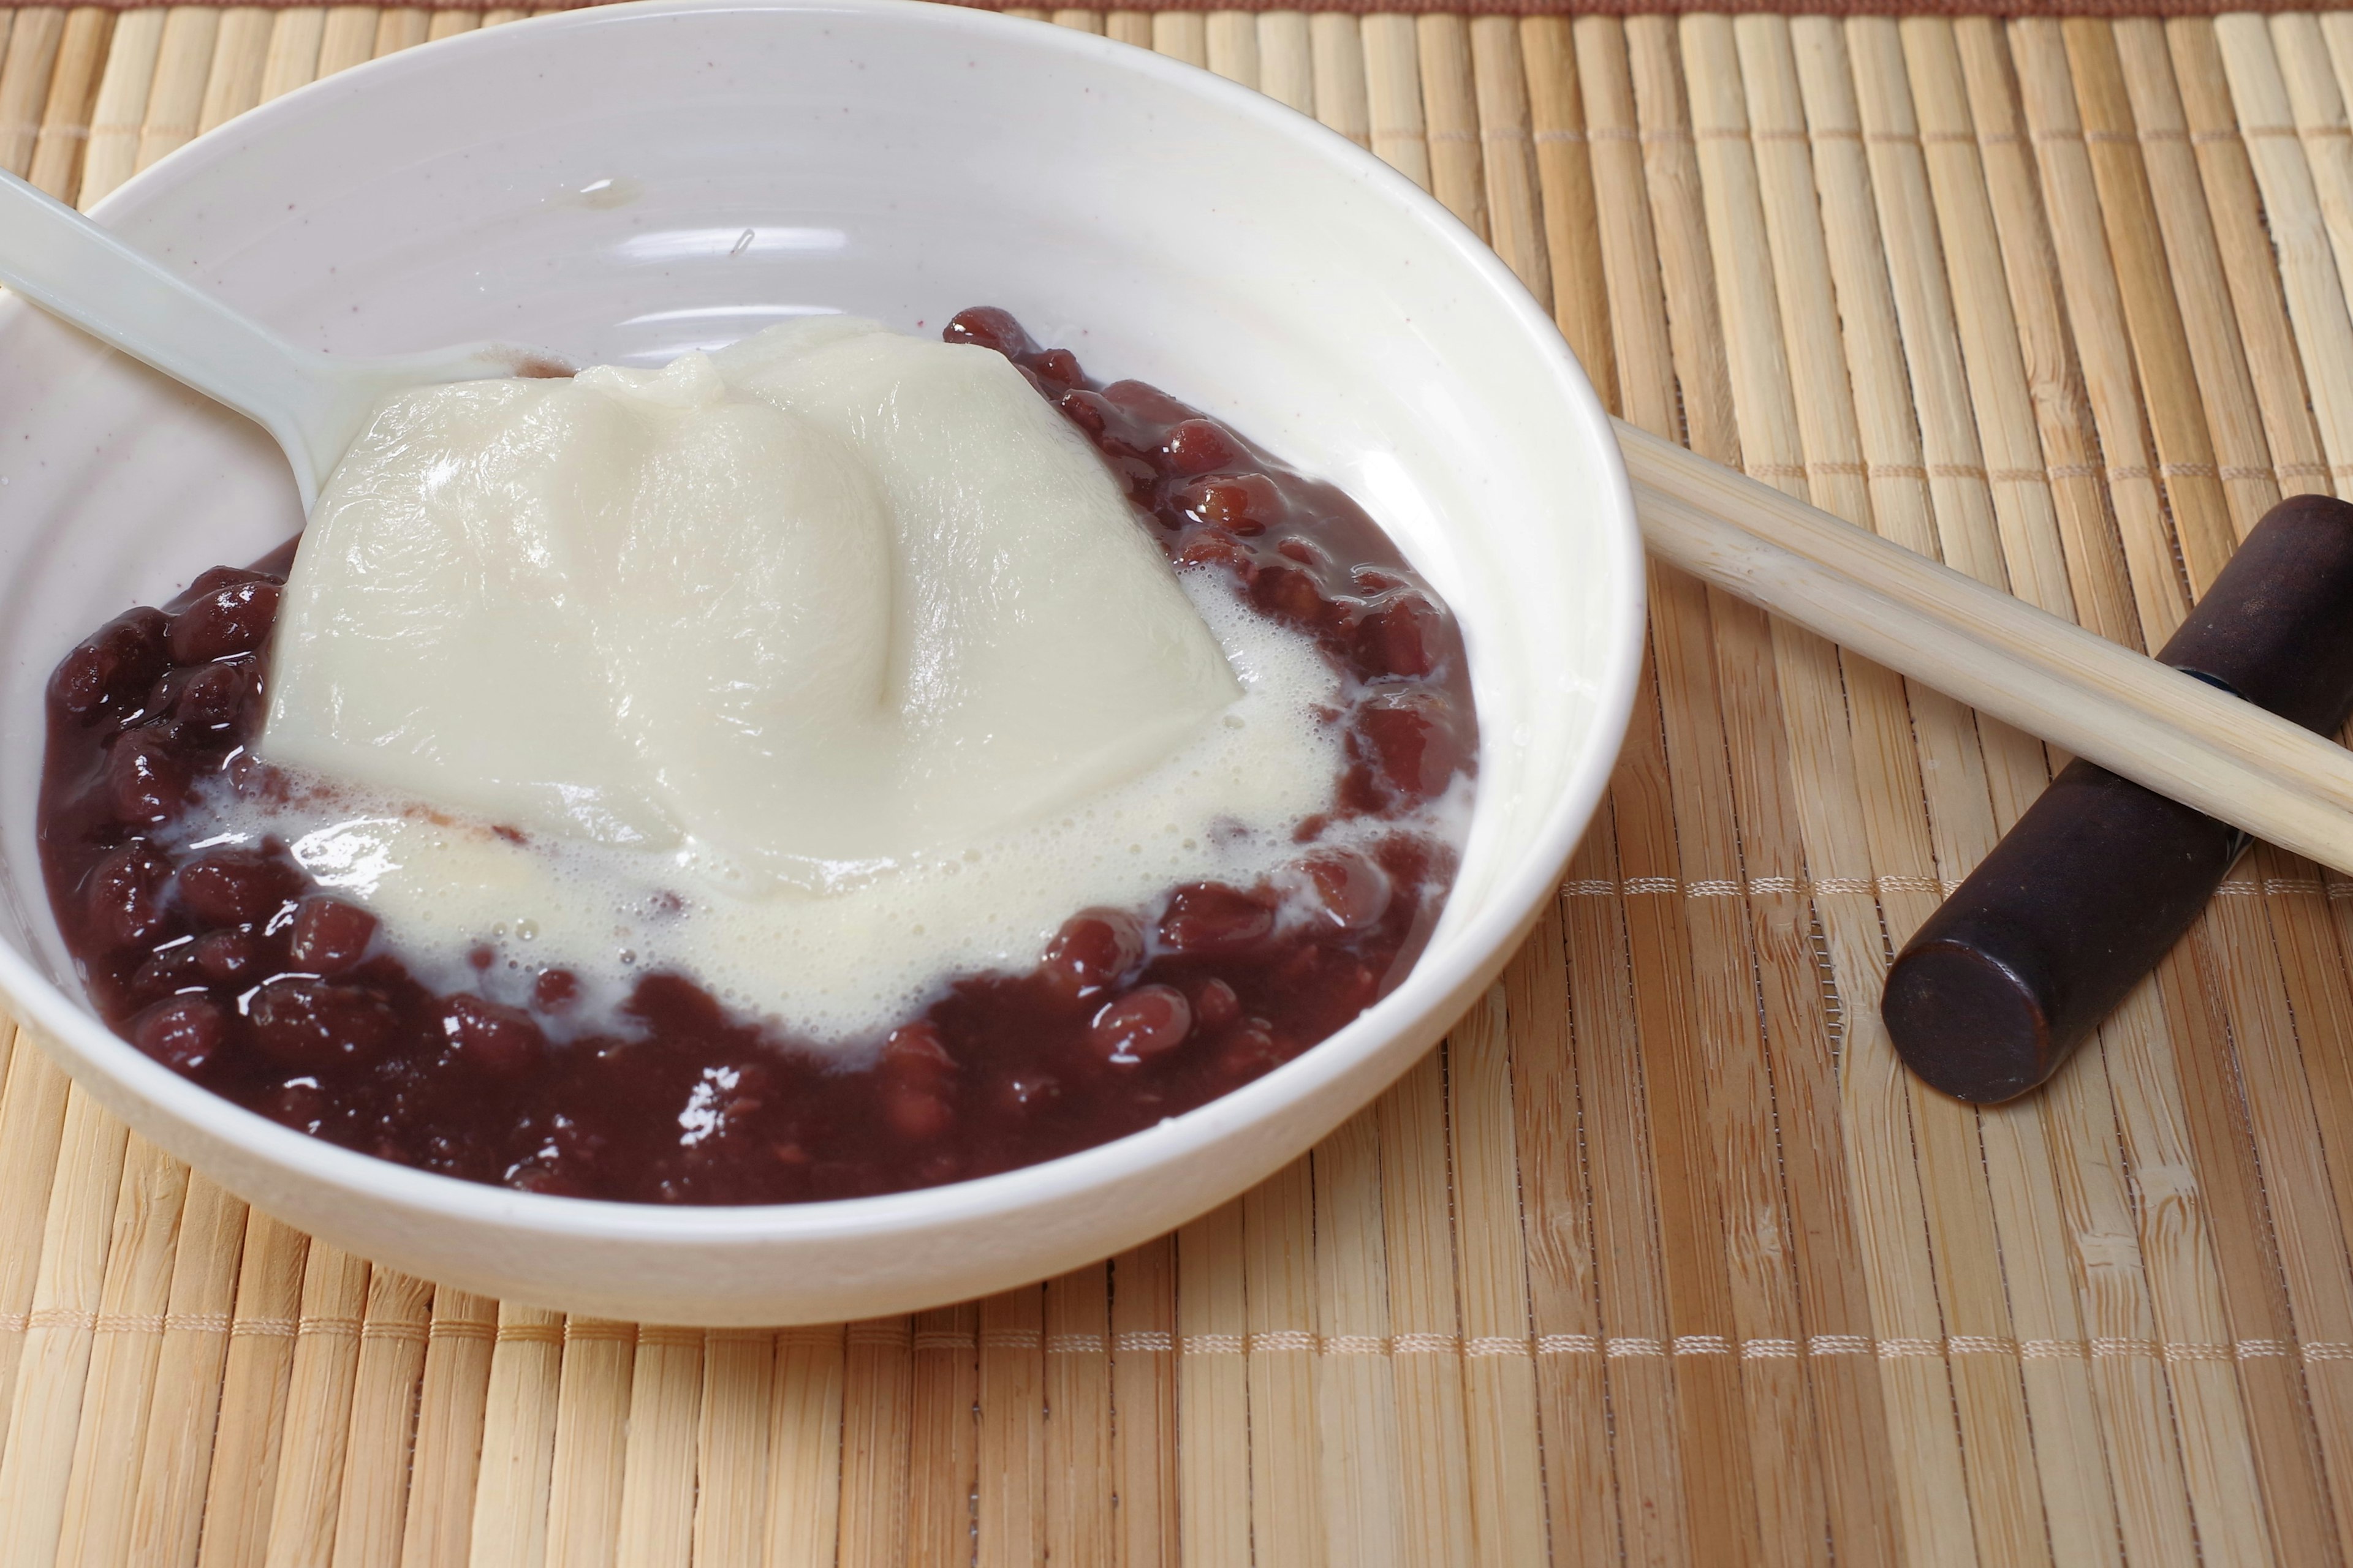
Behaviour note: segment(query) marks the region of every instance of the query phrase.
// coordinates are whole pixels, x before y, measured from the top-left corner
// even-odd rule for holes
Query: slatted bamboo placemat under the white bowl
[[[515,14],[0,12],[0,162],[87,205]],[[2108,637],[2353,487],[2353,14],[1052,19],[1431,186],[1628,418]],[[2348,1563],[2353,882],[2257,851],[2049,1093],[1944,1100],[1889,943],[2059,759],[1689,578],[1652,616],[1609,804],[1449,1044],[984,1302],[435,1291],[19,1044],[0,1568]]]

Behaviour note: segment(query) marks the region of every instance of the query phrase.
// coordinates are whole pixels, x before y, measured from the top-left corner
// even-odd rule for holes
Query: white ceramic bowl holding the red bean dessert
[[[42,682],[296,524],[268,440],[0,306],[0,987],[80,1084],[304,1229],[619,1319],[786,1324],[995,1291],[1162,1232],[1362,1107],[1494,980],[1609,776],[1642,557],[1607,421],[1497,259],[1372,155],[1202,71],[901,0],[682,0],[409,49],[162,160],[99,216],[304,343],[649,362],[779,315],[1012,308],[1346,484],[1464,621],[1482,750],[1412,976],[1186,1117],[929,1192],[654,1208],[478,1187],[216,1100],[87,1011],[35,858]]]

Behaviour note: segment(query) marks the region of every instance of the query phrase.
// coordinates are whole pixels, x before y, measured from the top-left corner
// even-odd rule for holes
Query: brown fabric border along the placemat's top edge
[[[289,9],[318,0],[235,0],[240,7]],[[586,9],[614,0],[548,0],[529,9]],[[1000,0],[939,0],[979,12],[1056,9],[1016,7]],[[151,0],[96,0],[101,9],[160,9]],[[395,9],[395,7],[384,7]],[[435,0],[431,12],[489,12],[496,0]],[[1445,16],[2226,16],[2231,12],[2334,12],[2346,0],[1158,0],[1155,5],[1096,5],[1094,12],[1344,12],[1445,14]]]

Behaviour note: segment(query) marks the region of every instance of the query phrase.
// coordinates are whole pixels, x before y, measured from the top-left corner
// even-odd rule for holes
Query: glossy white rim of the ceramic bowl
[[[504,1225],[569,1239],[680,1246],[814,1241],[845,1234],[871,1239],[934,1229],[941,1222],[965,1218],[1000,1215],[1040,1201],[1052,1192],[1113,1187],[1122,1180],[1144,1178],[1188,1154],[1202,1154],[1207,1147],[1247,1131],[1252,1124],[1271,1121],[1287,1107],[1313,1100],[1320,1088],[1355,1072],[1369,1056],[1379,1053],[1384,1041],[1407,1027],[1412,1018],[1442,1011],[1449,992],[1466,990],[1466,983],[1473,978],[1485,983],[1501,969],[1513,945],[1541,910],[1541,900],[1558,891],[1560,872],[1600,806],[1633,715],[1647,635],[1645,557],[1635,524],[1633,491],[1607,411],[1551,315],[1544,313],[1485,240],[1473,235],[1428,190],[1388,167],[1374,153],[1266,94],[1111,38],[965,5],[939,5],[936,0],[631,0],[624,5],[593,5],[518,19],[499,28],[478,28],[402,49],[400,54],[365,61],[332,78],[308,82],[238,115],[231,125],[259,132],[271,129],[278,120],[301,120],[325,94],[365,89],[372,82],[388,82],[400,75],[431,73],[440,59],[456,49],[513,47],[515,40],[544,33],[633,26],[656,16],[744,12],[894,16],[951,35],[1014,33],[1033,49],[1061,54],[1099,71],[1136,73],[1207,99],[1212,106],[1254,122],[1257,129],[1275,139],[1304,146],[1304,150],[1327,165],[1337,165],[1337,172],[1360,179],[1369,190],[1386,195],[1419,219],[1457,261],[1466,263],[1471,277],[1478,277],[1499,296],[1506,313],[1525,329],[1532,348],[1544,360],[1551,360],[1551,371],[1565,393],[1565,402],[1577,411],[1586,444],[1598,458],[1593,517],[1602,534],[1600,555],[1614,557],[1612,567],[1617,567],[1617,588],[1609,597],[1619,599],[1619,630],[1614,642],[1605,644],[1602,665],[1595,670],[1591,741],[1584,755],[1569,762],[1569,778],[1539,820],[1537,832],[1522,846],[1518,865],[1499,877],[1482,907],[1471,912],[1464,926],[1454,931],[1452,945],[1457,947],[1457,957],[1452,961],[1431,966],[1428,954],[1424,954],[1398,990],[1374,1001],[1355,1020],[1273,1072],[1191,1112],[1033,1166],[878,1197],[744,1206],[631,1204],[518,1192],[376,1159],[280,1126],[259,1112],[249,1112],[188,1084],[108,1030],[80,1001],[71,999],[64,985],[52,983],[28,954],[9,943],[0,943],[0,990],[14,999],[26,1023],[59,1037],[68,1053],[87,1058],[139,1100],[167,1105],[167,1114],[193,1124],[216,1145],[242,1150],[259,1161],[327,1190],[367,1192],[412,1215]],[[146,193],[167,186],[181,169],[233,153],[233,139],[219,134],[198,136],[111,190],[89,209],[89,216],[106,223],[120,212],[136,207]],[[0,310],[28,308],[21,299],[0,303]],[[1452,1027],[1452,1018],[1447,1027]]]

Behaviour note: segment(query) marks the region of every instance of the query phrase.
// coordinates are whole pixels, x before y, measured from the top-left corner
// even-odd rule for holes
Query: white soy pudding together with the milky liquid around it
[[[393,400],[280,611],[256,750],[311,788],[191,837],[289,844],[438,990],[565,969],[607,1027],[685,971],[871,1041],[1075,910],[1275,872],[1344,703],[1002,355],[821,317]]]

